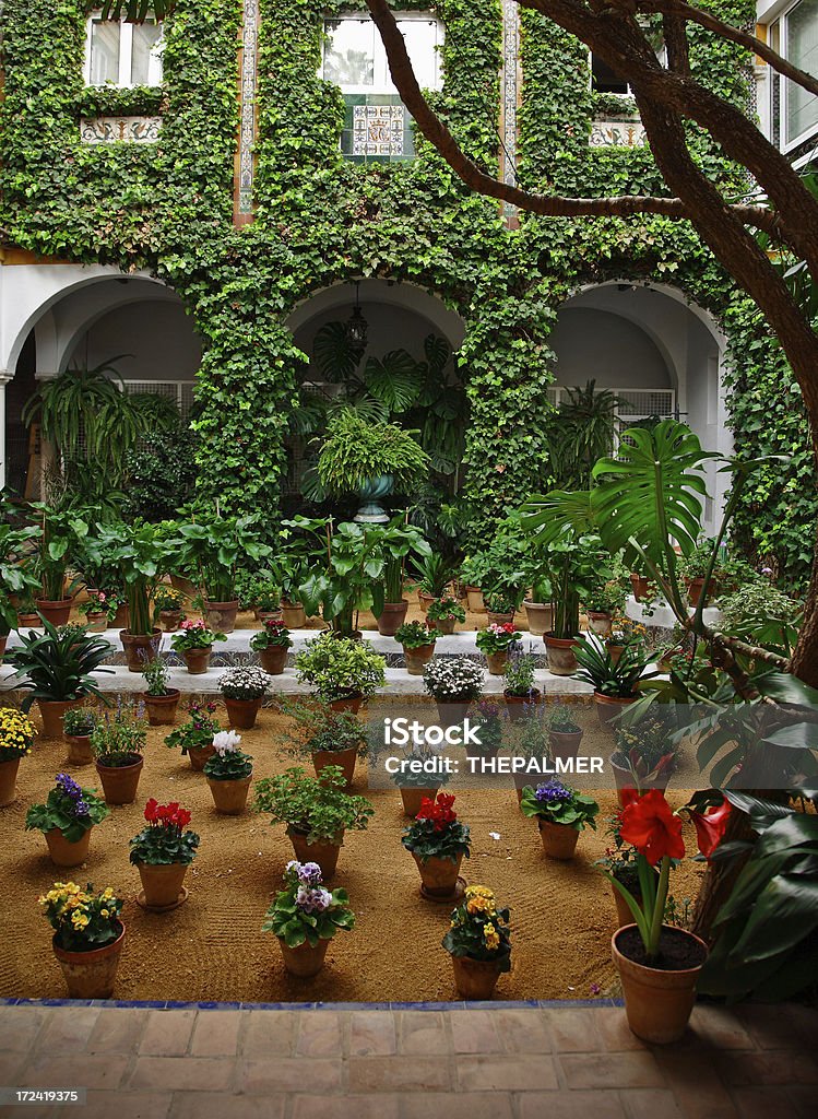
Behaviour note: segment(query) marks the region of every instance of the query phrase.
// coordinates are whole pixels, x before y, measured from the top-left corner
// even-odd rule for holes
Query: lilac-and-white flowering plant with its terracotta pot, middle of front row
[[[284,882],[284,888],[266,912],[262,932],[272,932],[278,938],[290,975],[308,979],[323,967],[336,932],[355,928],[355,913],[346,890],[323,888],[318,863],[292,859],[286,864]]]

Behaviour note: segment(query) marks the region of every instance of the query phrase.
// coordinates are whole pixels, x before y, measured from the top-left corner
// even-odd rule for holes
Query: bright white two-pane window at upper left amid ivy
[[[161,85],[162,28],[94,17],[85,41],[86,85]]]

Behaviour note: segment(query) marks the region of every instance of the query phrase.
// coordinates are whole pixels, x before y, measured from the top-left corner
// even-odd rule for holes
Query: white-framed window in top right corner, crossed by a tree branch
[[[770,46],[808,74],[818,75],[818,0],[799,0],[770,25]],[[771,69],[771,140],[789,151],[818,131],[818,97]]]

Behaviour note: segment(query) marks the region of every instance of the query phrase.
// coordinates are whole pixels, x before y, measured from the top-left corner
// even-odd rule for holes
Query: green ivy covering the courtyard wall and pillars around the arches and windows
[[[421,139],[410,163],[345,163],[342,100],[317,76],[322,19],[333,8],[336,0],[261,2],[256,211],[236,231],[239,0],[179,0],[166,27],[160,92],[83,88],[83,0],[3,4],[4,237],[39,254],[147,267],[180,294],[205,341],[203,496],[274,520],[305,363],[286,318],[317,290],[376,276],[429,289],[466,323],[458,357],[471,403],[464,490],[480,510],[476,534],[490,530],[507,505],[547,485],[548,337],[560,304],[587,283],[639,278],[675,284],[727,332],[739,452],[792,454],[783,485],[779,472],[775,485],[762,479],[750,492],[739,532],[806,574],[818,506],[798,395],[763,322],[690,228],[661,218],[527,217],[510,231],[497,206],[470,195]],[[467,151],[496,170],[499,2],[435,8],[446,28],[435,103]],[[754,10],[749,0],[714,0],[714,8],[743,22]],[[589,148],[591,119],[610,104],[589,88],[585,48],[536,13],[523,11],[521,20],[520,181],[568,194],[661,191],[647,149]],[[745,98],[741,53],[690,34],[699,73],[720,93]],[[83,147],[79,117],[97,112],[161,112],[161,137],[153,145]],[[706,138],[693,142],[725,189],[745,189]]]

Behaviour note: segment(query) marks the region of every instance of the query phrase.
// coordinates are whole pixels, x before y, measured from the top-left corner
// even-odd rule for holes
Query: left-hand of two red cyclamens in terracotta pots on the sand
[[[199,837],[185,831],[190,812],[178,801],[160,805],[151,797],[144,806],[148,827],[131,839],[131,863],[139,871],[143,909],[164,912],[187,900],[185,875],[196,858]]]

